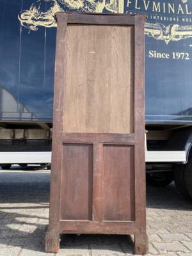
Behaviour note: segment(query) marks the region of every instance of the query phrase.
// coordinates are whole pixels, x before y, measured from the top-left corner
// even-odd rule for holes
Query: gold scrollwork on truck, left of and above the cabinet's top
[[[40,3],[33,3],[29,10],[19,13],[20,24],[30,30],[37,30],[39,26],[45,28],[56,27],[55,13],[68,10],[85,13],[102,13],[104,8],[111,13],[122,13],[124,0],[47,0],[51,7],[47,12],[40,10]]]

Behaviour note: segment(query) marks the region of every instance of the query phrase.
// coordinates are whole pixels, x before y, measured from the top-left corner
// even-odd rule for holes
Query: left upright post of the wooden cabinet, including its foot
[[[56,63],[54,74],[54,106],[52,127],[52,156],[51,156],[51,189],[49,208],[49,227],[45,236],[45,251],[57,253],[60,247],[60,191],[61,191],[61,154],[63,145],[60,135],[63,122],[60,122],[63,113],[63,95],[65,70],[65,36],[67,33],[67,17],[58,17],[56,36]],[[62,78],[61,78],[62,76]],[[60,106],[60,107],[59,107]]]

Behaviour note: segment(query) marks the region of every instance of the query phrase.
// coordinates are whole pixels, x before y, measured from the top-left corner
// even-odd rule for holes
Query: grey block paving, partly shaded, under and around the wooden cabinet
[[[0,170],[0,256],[44,256],[49,214],[47,170]],[[147,186],[148,255],[192,256],[192,204],[174,184]],[[61,239],[58,256],[132,255],[131,237],[75,236]]]

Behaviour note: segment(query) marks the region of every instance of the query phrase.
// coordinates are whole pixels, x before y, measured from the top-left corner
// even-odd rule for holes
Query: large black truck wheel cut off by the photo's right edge
[[[187,164],[175,166],[174,180],[180,193],[186,198],[192,198],[192,158]]]

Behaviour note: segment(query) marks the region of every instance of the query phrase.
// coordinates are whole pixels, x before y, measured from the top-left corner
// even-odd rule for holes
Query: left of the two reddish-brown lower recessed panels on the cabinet
[[[93,145],[63,144],[61,220],[92,220]]]

